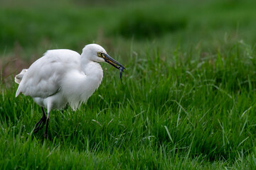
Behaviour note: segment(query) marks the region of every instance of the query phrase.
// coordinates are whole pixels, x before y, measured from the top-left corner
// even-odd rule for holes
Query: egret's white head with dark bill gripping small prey
[[[125,68],[122,64],[110,57],[110,55],[107,55],[106,50],[102,46],[97,44],[85,45],[82,49],[82,55],[93,62],[107,62],[111,64],[113,67],[119,69],[120,79],[122,80],[122,72],[124,72],[123,70]]]

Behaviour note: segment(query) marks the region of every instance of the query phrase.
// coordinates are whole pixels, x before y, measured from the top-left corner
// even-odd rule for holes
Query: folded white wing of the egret
[[[70,69],[78,69],[80,55],[72,50],[48,50],[23,75],[16,91],[31,97],[46,98],[61,89],[61,81]]]

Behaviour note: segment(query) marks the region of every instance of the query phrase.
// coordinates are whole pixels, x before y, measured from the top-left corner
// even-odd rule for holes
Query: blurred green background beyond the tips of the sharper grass
[[[48,49],[81,52],[98,43],[113,55],[177,45],[202,54],[256,41],[255,1],[0,1],[0,60],[6,77]],[[6,60],[9,58],[9,60]],[[21,61],[20,61],[21,60]],[[31,60],[31,62],[22,62]],[[10,62],[11,61],[11,62]],[[28,65],[29,65],[28,64]],[[28,65],[25,64],[26,67]]]

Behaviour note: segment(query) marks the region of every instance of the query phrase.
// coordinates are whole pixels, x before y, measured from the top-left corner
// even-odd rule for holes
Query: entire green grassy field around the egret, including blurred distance
[[[255,169],[255,1],[0,1],[0,169]],[[48,49],[97,42],[107,64],[78,111],[15,98]]]

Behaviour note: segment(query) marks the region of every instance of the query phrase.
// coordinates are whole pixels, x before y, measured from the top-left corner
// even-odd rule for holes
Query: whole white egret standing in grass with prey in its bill
[[[98,62],[107,62],[119,69],[122,80],[125,68],[97,44],[85,45],[81,55],[73,50],[48,50],[28,69],[16,75],[15,82],[19,84],[16,97],[19,94],[31,96],[43,111],[34,132],[46,124],[44,137],[47,137],[52,109],[64,108],[69,103],[75,111],[92,96],[103,78],[103,70]],[[47,108],[47,116],[43,108]]]

